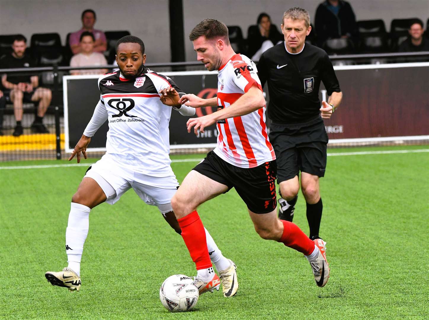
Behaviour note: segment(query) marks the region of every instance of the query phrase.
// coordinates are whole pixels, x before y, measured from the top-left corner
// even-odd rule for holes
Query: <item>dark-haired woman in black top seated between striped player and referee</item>
[[[257,19],[257,25],[249,27],[248,56],[252,60],[259,60],[261,54],[279,41],[283,41],[283,35],[277,27],[271,23],[271,18],[266,13],[261,13]]]

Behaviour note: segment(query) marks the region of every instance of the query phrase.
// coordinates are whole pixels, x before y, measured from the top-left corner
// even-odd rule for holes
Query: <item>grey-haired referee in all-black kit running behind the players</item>
[[[292,8],[283,15],[284,42],[265,51],[257,65],[262,86],[268,83],[268,115],[272,120],[269,139],[277,158],[280,185],[279,218],[292,221],[299,191],[307,202],[311,240],[320,238],[322,199],[319,177],[326,169],[326,134],[323,119],[329,119],[341,103],[342,93],[332,63],[325,51],[305,43],[311,31],[310,15]],[[330,96],[320,108],[320,81]]]

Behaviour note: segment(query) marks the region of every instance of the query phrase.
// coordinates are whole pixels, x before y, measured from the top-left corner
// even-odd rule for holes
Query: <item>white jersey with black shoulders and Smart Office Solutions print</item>
[[[172,107],[160,101],[158,91],[173,87],[164,75],[144,68],[135,80],[123,78],[119,71],[98,80],[100,101],[95,118],[109,121],[106,153],[123,166],[151,176],[172,175],[169,157],[169,121]],[[85,136],[93,136],[104,121],[91,119]],[[174,175],[174,174],[173,174]]]

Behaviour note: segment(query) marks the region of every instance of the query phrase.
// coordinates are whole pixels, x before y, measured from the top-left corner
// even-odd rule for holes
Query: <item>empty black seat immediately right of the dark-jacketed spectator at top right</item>
[[[383,20],[357,21],[357,28],[359,32],[358,43],[360,53],[380,53],[389,51],[389,37]]]

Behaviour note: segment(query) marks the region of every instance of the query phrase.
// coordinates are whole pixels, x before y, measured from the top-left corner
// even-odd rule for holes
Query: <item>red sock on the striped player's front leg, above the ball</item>
[[[198,212],[192,211],[177,221],[182,229],[181,236],[189,250],[190,257],[195,262],[196,269],[210,268],[211,261],[205,240],[205,230]]]

